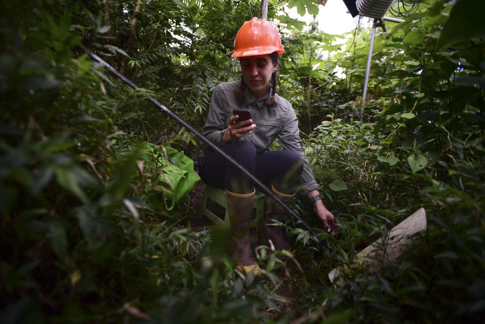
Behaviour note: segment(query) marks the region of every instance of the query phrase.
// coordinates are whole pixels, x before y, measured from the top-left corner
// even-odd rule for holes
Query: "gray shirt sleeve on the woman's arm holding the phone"
[[[202,133],[218,146],[222,145],[222,135],[227,130],[226,114],[222,108],[220,98],[223,93],[220,84],[216,86],[212,94],[211,105],[209,106],[209,114]]]

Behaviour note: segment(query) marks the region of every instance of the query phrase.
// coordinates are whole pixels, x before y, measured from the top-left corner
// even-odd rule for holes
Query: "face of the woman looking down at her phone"
[[[243,79],[253,99],[258,100],[266,96],[269,92],[271,74],[276,71],[278,63],[273,64],[268,54],[242,57],[239,63]]]

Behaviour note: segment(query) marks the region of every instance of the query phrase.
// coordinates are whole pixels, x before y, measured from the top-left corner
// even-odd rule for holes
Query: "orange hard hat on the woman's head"
[[[234,51],[231,57],[240,58],[273,52],[284,53],[278,31],[266,19],[254,17],[245,21],[239,28],[234,39]]]

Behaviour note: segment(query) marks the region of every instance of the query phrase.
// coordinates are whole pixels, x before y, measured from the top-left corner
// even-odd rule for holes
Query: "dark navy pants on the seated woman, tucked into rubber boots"
[[[236,141],[221,149],[256,175],[268,187],[292,195],[297,190],[303,172],[303,160],[294,151],[272,151],[256,154],[254,145]],[[219,153],[208,150],[202,158],[202,180],[209,186],[227,189],[237,194],[249,194],[254,183]]]

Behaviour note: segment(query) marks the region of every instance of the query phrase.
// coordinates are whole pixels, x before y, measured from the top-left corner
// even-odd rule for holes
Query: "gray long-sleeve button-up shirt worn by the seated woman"
[[[241,140],[253,143],[256,152],[261,154],[278,136],[279,143],[285,150],[295,151],[303,159],[302,183],[305,185],[305,191],[319,190],[320,186],[315,181],[310,163],[302,149],[298,119],[292,105],[276,94],[278,105],[274,108],[266,108],[264,101],[271,96],[271,89],[266,97],[259,100],[253,100],[249,90],[246,89],[244,102],[238,103],[235,95],[238,88],[239,81],[220,83],[216,86],[212,94],[206,125],[202,131],[204,135],[215,144],[223,145],[222,135],[227,130],[233,109],[249,108],[256,128],[248,135],[241,137]]]

